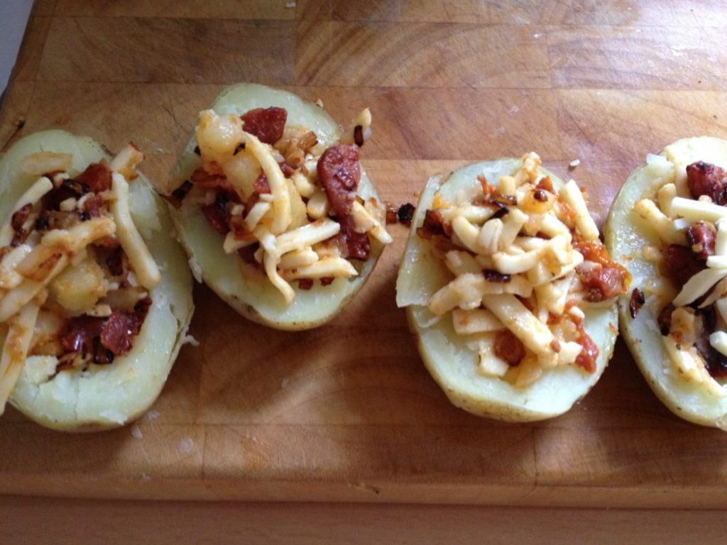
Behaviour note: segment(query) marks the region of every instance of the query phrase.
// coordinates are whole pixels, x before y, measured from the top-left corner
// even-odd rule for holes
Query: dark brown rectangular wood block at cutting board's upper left
[[[38,79],[292,84],[293,25],[288,21],[56,16]],[[64,51],[73,55],[57,55]]]

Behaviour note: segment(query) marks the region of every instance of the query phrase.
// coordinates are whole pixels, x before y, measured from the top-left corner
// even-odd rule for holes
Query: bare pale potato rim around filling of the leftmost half
[[[60,130],[31,134],[0,159],[0,219],[36,177],[23,174],[24,157],[40,151],[73,155],[71,174],[111,156],[97,142]],[[132,350],[91,373],[63,371],[48,379],[43,357],[26,360],[9,403],[52,429],[90,432],[119,427],[141,416],[158,397],[177,357],[193,313],[191,275],[169,233],[164,201],[141,174],[130,185],[131,214],[145,244],[164,270],[150,296],[153,304]]]

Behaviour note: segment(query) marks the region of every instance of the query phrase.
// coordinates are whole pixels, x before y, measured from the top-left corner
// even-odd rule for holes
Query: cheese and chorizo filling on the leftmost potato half
[[[28,356],[53,379],[132,350],[161,280],[129,212],[143,158],[131,144],[73,176],[66,153],[21,161],[39,178],[0,227],[0,413]]]

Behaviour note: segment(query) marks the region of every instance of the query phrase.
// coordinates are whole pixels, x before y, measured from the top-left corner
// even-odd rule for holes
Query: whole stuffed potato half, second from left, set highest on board
[[[225,89],[166,188],[197,280],[273,328],[314,328],[339,312],[391,240],[358,162],[370,124],[368,110],[342,130],[292,93]]]

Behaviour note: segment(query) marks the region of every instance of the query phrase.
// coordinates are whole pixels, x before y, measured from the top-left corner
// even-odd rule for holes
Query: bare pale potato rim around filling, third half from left
[[[480,175],[487,180],[497,180],[501,175],[512,175],[521,165],[520,159],[507,158],[465,166],[443,181],[439,177],[430,179],[419,198],[399,270],[397,304],[406,307],[422,360],[451,403],[478,416],[524,422],[549,419],[568,411],[598,381],[614,350],[617,336],[615,307],[586,311],[585,331],[600,350],[593,374],[585,374],[572,366],[559,366],[545,371],[537,382],[525,388],[483,376],[476,369],[476,352],[467,350],[454,332],[451,320],[438,320],[430,325],[433,315],[426,307],[427,299],[448,281],[449,272],[441,260],[433,256],[427,241],[416,233],[438,190],[454,195],[478,185]],[[550,177],[556,189],[563,185],[553,174],[539,170]]]

